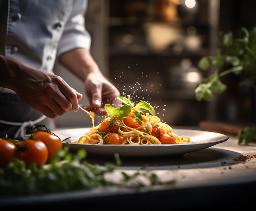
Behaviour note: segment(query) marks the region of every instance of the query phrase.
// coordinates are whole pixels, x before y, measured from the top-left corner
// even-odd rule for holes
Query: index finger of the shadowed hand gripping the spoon
[[[77,112],[79,107],[76,92],[63,79],[58,81],[58,88],[71,102],[73,111]]]

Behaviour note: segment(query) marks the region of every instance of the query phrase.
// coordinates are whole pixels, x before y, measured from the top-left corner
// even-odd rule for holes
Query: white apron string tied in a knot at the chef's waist
[[[25,135],[26,132],[26,128],[27,127],[35,127],[35,124],[40,123],[41,121],[43,121],[46,118],[46,116],[42,116],[40,118],[38,118],[37,120],[34,121],[24,121],[24,122],[11,122],[11,121],[4,121],[4,120],[0,120],[0,123],[2,124],[9,124],[9,125],[14,125],[14,126],[21,126],[19,127],[19,129],[17,130],[17,132],[14,134],[14,139],[18,139],[19,137],[21,137],[23,140],[27,139],[28,135]]]

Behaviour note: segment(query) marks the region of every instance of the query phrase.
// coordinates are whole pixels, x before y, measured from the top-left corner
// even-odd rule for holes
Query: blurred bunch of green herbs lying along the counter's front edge
[[[148,171],[136,172],[133,175],[122,173],[123,180],[114,183],[107,180],[105,175],[112,173],[122,162],[119,154],[115,153],[116,165],[106,163],[104,167],[89,164],[84,161],[87,153],[80,149],[76,155],[68,153],[64,148],[51,159],[51,164],[40,168],[35,163],[25,167],[25,162],[13,158],[6,168],[0,168],[0,195],[35,195],[54,192],[92,189],[98,186],[141,187],[140,176],[149,179],[150,185],[170,184],[161,183],[157,176]],[[59,162],[64,160],[65,162]]]

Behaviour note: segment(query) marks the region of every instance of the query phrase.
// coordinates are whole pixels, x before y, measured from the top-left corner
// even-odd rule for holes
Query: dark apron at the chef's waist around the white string
[[[40,117],[42,117],[42,114],[30,108],[17,94],[0,92],[0,120],[17,123],[29,120],[34,121]],[[54,121],[49,118],[38,124],[44,124],[50,130],[55,129]],[[0,138],[5,137],[4,133],[13,138],[19,127],[0,123]]]

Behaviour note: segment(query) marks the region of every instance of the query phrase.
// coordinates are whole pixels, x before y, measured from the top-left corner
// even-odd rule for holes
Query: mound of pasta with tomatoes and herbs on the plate
[[[130,98],[128,102],[130,102]],[[127,103],[125,106],[126,105],[129,104]],[[188,136],[174,134],[172,128],[168,124],[161,122],[160,118],[155,116],[155,112],[152,110],[153,108],[151,105],[146,104],[148,107],[144,105],[143,109],[138,108],[140,106],[139,104],[134,107],[134,104],[130,102],[130,105],[130,108],[129,106],[126,106],[128,107],[127,111],[125,110],[126,108],[120,109],[121,112],[125,110],[126,113],[123,113],[128,114],[121,114],[119,117],[113,117],[118,113],[118,109],[115,109],[115,112],[111,113],[111,109],[106,108],[105,106],[109,117],[105,118],[98,126],[91,128],[85,135],[82,135],[77,143],[95,145],[161,145],[191,143]],[[154,115],[150,115],[149,112],[144,115],[142,112],[144,112],[145,107]],[[122,115],[123,117],[121,117]]]

